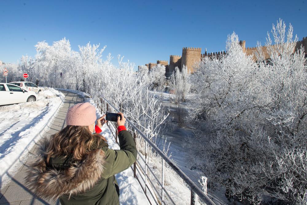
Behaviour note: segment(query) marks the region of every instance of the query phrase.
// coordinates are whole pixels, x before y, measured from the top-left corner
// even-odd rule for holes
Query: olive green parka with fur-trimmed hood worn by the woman
[[[40,197],[59,198],[64,205],[119,204],[119,186],[114,175],[136,161],[137,150],[128,131],[120,131],[118,138],[120,150],[100,146],[80,162],[56,157],[50,158],[47,165],[44,151],[49,142],[45,140],[40,157],[29,166],[28,187]]]

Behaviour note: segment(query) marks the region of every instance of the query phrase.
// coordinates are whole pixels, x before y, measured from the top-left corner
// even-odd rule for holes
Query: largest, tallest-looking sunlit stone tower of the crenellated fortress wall
[[[182,57],[181,57],[181,68],[182,71],[183,65],[188,67],[188,71],[193,73],[194,65],[196,62],[200,61],[201,57],[201,48],[182,48]]]

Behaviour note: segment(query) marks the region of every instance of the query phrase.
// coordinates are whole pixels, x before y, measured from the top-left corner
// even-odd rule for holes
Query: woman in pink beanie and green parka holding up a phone
[[[69,108],[67,126],[41,140],[37,159],[29,165],[28,187],[41,198],[60,199],[61,204],[119,204],[114,175],[136,161],[137,150],[124,115],[118,114],[120,150],[113,150],[99,134],[105,116],[96,120],[96,109],[88,102]]]

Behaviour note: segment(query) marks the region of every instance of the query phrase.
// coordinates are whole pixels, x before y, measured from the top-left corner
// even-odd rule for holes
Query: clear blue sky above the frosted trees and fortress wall
[[[38,41],[66,37],[78,45],[107,45],[137,65],[181,55],[182,47],[225,49],[235,31],[247,47],[265,42],[272,23],[291,23],[307,36],[307,0],[300,1],[4,1],[0,0],[0,60],[35,57]],[[114,63],[117,60],[114,59]]]

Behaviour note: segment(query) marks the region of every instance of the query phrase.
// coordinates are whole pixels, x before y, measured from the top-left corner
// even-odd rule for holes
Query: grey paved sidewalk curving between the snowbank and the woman
[[[49,126],[49,130],[45,135],[50,136],[66,126],[65,117],[68,108],[84,101],[83,97],[78,94],[68,91],[60,91],[65,95],[62,107],[60,108],[55,119]],[[27,170],[29,161],[33,158],[33,153],[36,152],[37,144],[29,152],[28,161],[26,161],[18,170],[18,172],[12,177],[11,181],[5,186],[1,187],[0,192],[0,204],[12,204],[12,205],[26,205],[26,204],[60,204],[59,201],[50,201],[37,198],[29,189],[24,186],[25,183],[25,171]]]

